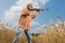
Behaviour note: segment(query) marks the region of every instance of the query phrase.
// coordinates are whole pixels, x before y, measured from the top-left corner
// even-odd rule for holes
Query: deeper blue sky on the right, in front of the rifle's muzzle
[[[50,0],[44,8],[48,8],[49,11],[39,15],[38,19],[36,19],[37,22],[48,24],[50,20],[53,20],[56,23],[56,15],[60,15],[63,19],[65,19],[65,0]]]

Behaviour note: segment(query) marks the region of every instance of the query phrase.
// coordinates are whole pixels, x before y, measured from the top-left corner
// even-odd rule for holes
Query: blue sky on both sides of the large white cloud
[[[1,19],[4,18],[4,11],[9,10],[13,4],[15,4],[15,1],[17,0],[0,0]],[[60,14],[60,16],[65,19],[65,0],[50,0],[50,2],[44,5],[44,9],[47,8],[49,9],[49,11],[44,11],[42,14],[36,17],[34,19],[35,22],[38,22],[40,25],[46,25],[50,20],[56,23],[57,14]]]

